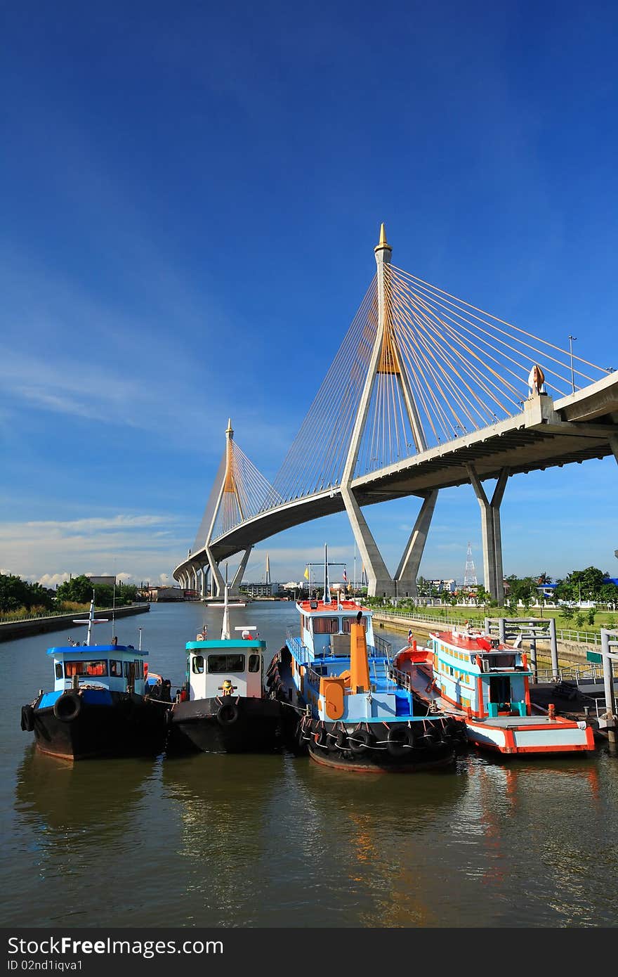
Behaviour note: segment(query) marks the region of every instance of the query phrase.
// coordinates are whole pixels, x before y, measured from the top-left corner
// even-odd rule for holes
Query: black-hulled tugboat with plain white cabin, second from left
[[[225,590],[221,639],[205,633],[186,643],[186,680],[168,716],[168,754],[268,751],[280,744],[283,706],[263,684],[266,641],[255,626],[236,627],[231,638]]]

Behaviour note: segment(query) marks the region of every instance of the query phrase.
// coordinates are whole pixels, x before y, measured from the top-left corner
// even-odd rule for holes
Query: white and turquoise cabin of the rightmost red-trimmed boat
[[[529,716],[530,678],[525,652],[498,638],[433,633],[433,682],[440,696],[475,718]]]

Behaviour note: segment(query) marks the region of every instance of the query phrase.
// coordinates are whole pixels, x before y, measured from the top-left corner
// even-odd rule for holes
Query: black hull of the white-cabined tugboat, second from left
[[[273,699],[219,697],[175,703],[166,751],[269,752],[281,745],[282,705]]]

